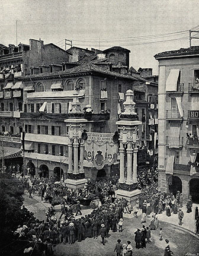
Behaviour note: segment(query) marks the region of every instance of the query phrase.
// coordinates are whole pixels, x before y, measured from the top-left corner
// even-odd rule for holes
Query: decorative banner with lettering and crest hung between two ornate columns
[[[114,134],[87,132],[87,135],[84,159],[92,162],[92,167],[100,170],[117,162],[118,144],[113,141]]]

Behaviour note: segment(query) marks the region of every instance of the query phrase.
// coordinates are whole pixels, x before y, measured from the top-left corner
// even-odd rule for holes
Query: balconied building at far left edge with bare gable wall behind
[[[37,72],[56,70],[56,64],[68,62],[69,53],[42,40],[30,39],[30,45],[20,43],[18,46],[0,45],[0,132],[1,135],[20,136],[23,131],[23,121],[20,113],[24,111],[23,78],[25,75]],[[53,67],[49,65],[53,63]],[[38,67],[40,68],[34,68]],[[17,140],[17,139],[16,139]],[[12,150],[4,143],[4,154]]]

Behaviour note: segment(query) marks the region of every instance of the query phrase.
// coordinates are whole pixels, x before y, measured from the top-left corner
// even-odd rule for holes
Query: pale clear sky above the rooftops
[[[198,0],[0,0],[0,7],[4,45],[16,45],[17,20],[18,43],[41,38],[62,48],[63,39],[88,49],[121,46],[131,51],[130,66],[153,68],[153,74],[156,53],[188,48],[188,30],[199,30]]]

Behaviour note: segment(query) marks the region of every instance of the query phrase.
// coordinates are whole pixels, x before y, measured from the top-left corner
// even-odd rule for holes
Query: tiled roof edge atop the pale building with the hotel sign
[[[166,57],[166,56],[179,56],[179,55],[194,55],[199,53],[199,46],[191,46],[190,48],[181,48],[178,50],[168,50],[166,52],[160,52],[154,55],[155,58]]]

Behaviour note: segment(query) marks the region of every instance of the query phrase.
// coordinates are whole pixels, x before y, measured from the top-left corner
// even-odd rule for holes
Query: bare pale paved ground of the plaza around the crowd
[[[28,210],[33,211],[34,215],[38,219],[46,219],[45,210],[51,205],[49,203],[44,203],[41,201],[41,198],[37,195],[33,195],[33,198],[28,198],[28,195],[24,195],[24,205]],[[133,255],[145,256],[145,255],[154,255],[161,256],[164,254],[165,249],[165,239],[169,239],[169,244],[171,246],[174,255],[184,256],[189,253],[192,255],[197,255],[199,252],[199,236],[195,235],[195,220],[194,220],[194,211],[195,204],[192,207],[192,213],[186,213],[185,207],[182,208],[184,211],[184,224],[178,226],[178,214],[172,214],[171,217],[167,217],[166,213],[159,214],[159,227],[162,227],[163,230],[163,241],[159,241],[159,228],[157,230],[152,230],[151,243],[146,245],[146,249],[136,249],[134,245],[134,232],[137,228],[141,228],[143,224],[140,223],[141,211],[139,211],[139,217],[129,218],[124,214],[124,224],[123,232],[112,232],[110,231],[110,237],[105,239],[105,246],[101,244],[101,238],[98,236],[97,239],[86,238],[82,242],[76,241],[75,244],[64,245],[59,244],[56,246],[55,255],[56,256],[88,256],[88,255],[99,255],[99,256],[112,256],[116,255],[114,252],[114,245],[117,242],[117,239],[121,239],[121,243],[126,243],[128,240],[131,241],[133,246]],[[60,216],[60,206],[54,207],[56,210],[56,216]],[[91,209],[82,209],[82,214],[91,213]],[[151,214],[152,216],[152,214]],[[147,216],[145,226],[149,226],[151,216]],[[79,217],[79,216],[77,216]]]

